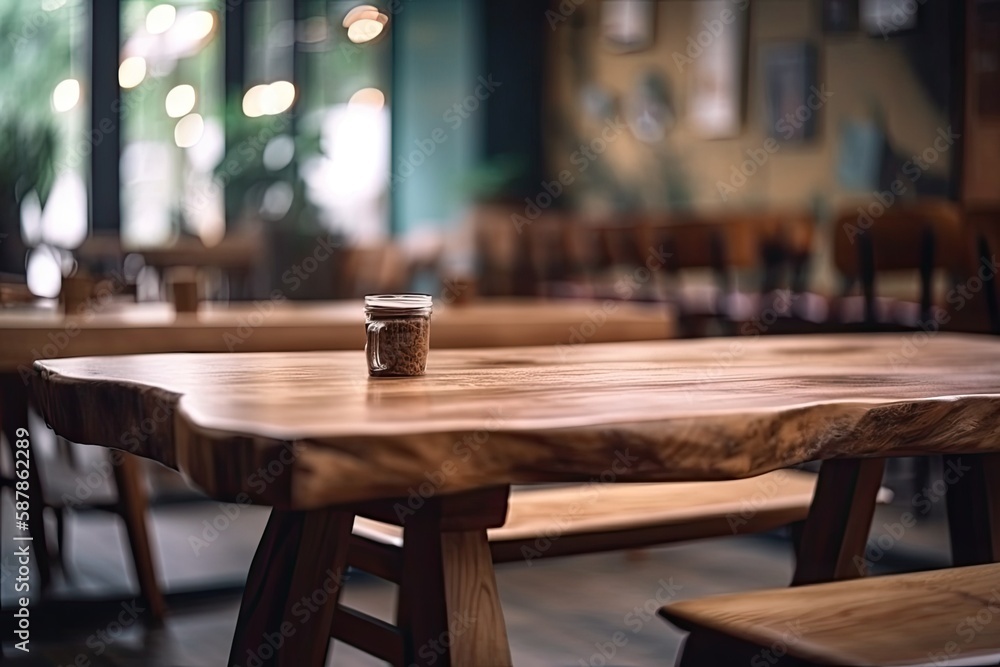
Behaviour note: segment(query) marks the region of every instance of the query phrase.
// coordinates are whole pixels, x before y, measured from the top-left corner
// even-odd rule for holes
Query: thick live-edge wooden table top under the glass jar
[[[71,440],[293,509],[508,483],[712,480],[836,457],[1000,451],[1000,339],[775,336],[38,361]]]

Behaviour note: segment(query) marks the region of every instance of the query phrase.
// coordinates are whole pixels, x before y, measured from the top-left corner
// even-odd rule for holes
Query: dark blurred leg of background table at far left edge
[[[14,455],[14,442],[18,440],[17,429],[28,428],[28,388],[16,374],[0,375],[0,426],[4,437]],[[35,434],[37,436],[37,434]],[[28,532],[32,537],[32,551],[35,554],[35,564],[38,566],[38,576],[41,579],[42,590],[52,583],[52,564],[49,556],[49,542],[45,535],[45,500],[42,494],[42,480],[38,473],[41,461],[38,449],[34,446],[35,438],[28,438]]]

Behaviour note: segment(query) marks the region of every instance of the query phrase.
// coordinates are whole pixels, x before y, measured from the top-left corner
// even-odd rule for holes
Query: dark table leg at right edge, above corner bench
[[[1000,561],[1000,454],[949,454],[944,470],[952,564]]]

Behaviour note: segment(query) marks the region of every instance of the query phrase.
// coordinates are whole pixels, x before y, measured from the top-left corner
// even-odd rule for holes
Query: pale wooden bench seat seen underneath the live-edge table
[[[632,549],[762,532],[803,521],[816,475],[776,470],[724,482],[515,487],[488,531],[494,562]],[[883,489],[886,502],[891,492]],[[358,517],[354,535],[400,547],[399,526]]]

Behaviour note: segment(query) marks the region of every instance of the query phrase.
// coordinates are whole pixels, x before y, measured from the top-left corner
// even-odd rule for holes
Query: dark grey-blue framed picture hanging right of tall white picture
[[[816,84],[816,48],[805,41],[767,44],[761,63],[768,135],[792,143],[813,139],[826,102]]]

